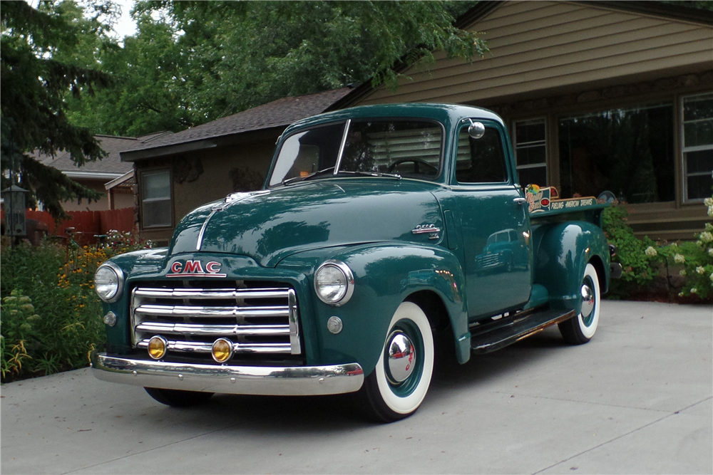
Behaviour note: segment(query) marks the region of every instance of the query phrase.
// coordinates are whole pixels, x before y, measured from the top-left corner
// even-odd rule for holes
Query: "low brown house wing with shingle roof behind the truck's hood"
[[[350,90],[282,98],[121,152],[121,160],[135,166],[142,238],[165,243],[191,209],[260,189],[282,131]]]

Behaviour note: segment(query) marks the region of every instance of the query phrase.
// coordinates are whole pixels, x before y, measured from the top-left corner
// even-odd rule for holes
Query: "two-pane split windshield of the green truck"
[[[349,127],[346,137],[344,127]],[[434,179],[441,169],[442,135],[436,122],[418,119],[339,122],[297,132],[282,143],[270,186],[339,172]],[[316,174],[332,167],[337,169]]]

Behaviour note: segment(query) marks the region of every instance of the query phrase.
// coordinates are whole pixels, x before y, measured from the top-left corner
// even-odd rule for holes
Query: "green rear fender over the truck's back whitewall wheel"
[[[539,226],[535,243],[534,282],[547,288],[553,308],[580,312],[580,285],[589,262],[600,274],[602,293],[607,290],[609,248],[600,227],[586,221]]]

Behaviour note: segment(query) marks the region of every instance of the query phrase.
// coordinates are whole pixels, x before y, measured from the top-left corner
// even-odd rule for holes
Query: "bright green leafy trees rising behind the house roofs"
[[[117,87],[73,105],[72,118],[141,135],[288,95],[370,79],[394,85],[399,66],[432,61],[432,51],[467,61],[486,53],[481,38],[453,26],[474,3],[140,1],[135,36],[102,51]]]

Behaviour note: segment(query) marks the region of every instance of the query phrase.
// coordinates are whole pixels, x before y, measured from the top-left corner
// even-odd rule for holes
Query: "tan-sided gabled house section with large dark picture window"
[[[654,239],[692,239],[713,186],[713,12],[649,1],[483,1],[459,26],[491,53],[402,71],[337,103],[438,102],[494,110],[521,184],[567,198],[610,191]]]

